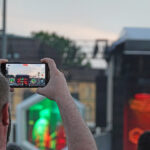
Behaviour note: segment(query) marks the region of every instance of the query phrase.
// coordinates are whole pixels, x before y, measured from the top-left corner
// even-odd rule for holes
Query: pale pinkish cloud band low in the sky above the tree
[[[98,30],[90,26],[71,23],[51,23],[24,18],[8,17],[8,32],[19,35],[30,35],[32,31],[57,32],[72,39],[96,39],[107,38],[116,40],[117,34],[113,32]]]

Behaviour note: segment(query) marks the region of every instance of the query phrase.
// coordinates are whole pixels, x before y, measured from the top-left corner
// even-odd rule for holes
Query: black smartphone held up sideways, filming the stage
[[[1,72],[12,88],[44,87],[49,80],[45,63],[3,63]]]

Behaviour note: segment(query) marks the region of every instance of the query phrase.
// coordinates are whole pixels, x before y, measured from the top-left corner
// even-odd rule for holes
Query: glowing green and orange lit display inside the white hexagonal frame
[[[47,98],[28,111],[28,139],[40,150],[56,150],[57,130],[62,119],[55,101]]]

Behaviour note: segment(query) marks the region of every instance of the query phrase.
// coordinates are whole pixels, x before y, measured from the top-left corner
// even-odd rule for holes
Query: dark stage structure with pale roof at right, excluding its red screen
[[[125,104],[136,93],[150,93],[150,29],[125,28],[120,39],[105,50],[105,59],[107,81],[99,77],[102,85],[97,89],[101,94],[97,100],[99,114],[103,113],[104,117],[97,118],[97,126],[111,133],[111,150],[127,150],[124,147]],[[100,91],[102,86],[104,93]]]

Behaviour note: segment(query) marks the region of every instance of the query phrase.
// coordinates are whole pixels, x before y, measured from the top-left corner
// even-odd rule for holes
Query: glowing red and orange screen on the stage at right
[[[124,107],[124,150],[136,150],[140,135],[150,130],[150,94],[137,93]]]

